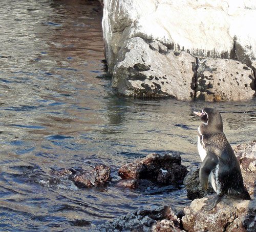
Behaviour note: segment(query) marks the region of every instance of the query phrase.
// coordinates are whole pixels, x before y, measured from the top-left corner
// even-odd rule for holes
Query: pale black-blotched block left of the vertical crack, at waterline
[[[136,97],[194,98],[196,59],[188,53],[176,53],[158,41],[135,37],[118,56],[112,79],[118,92]]]

